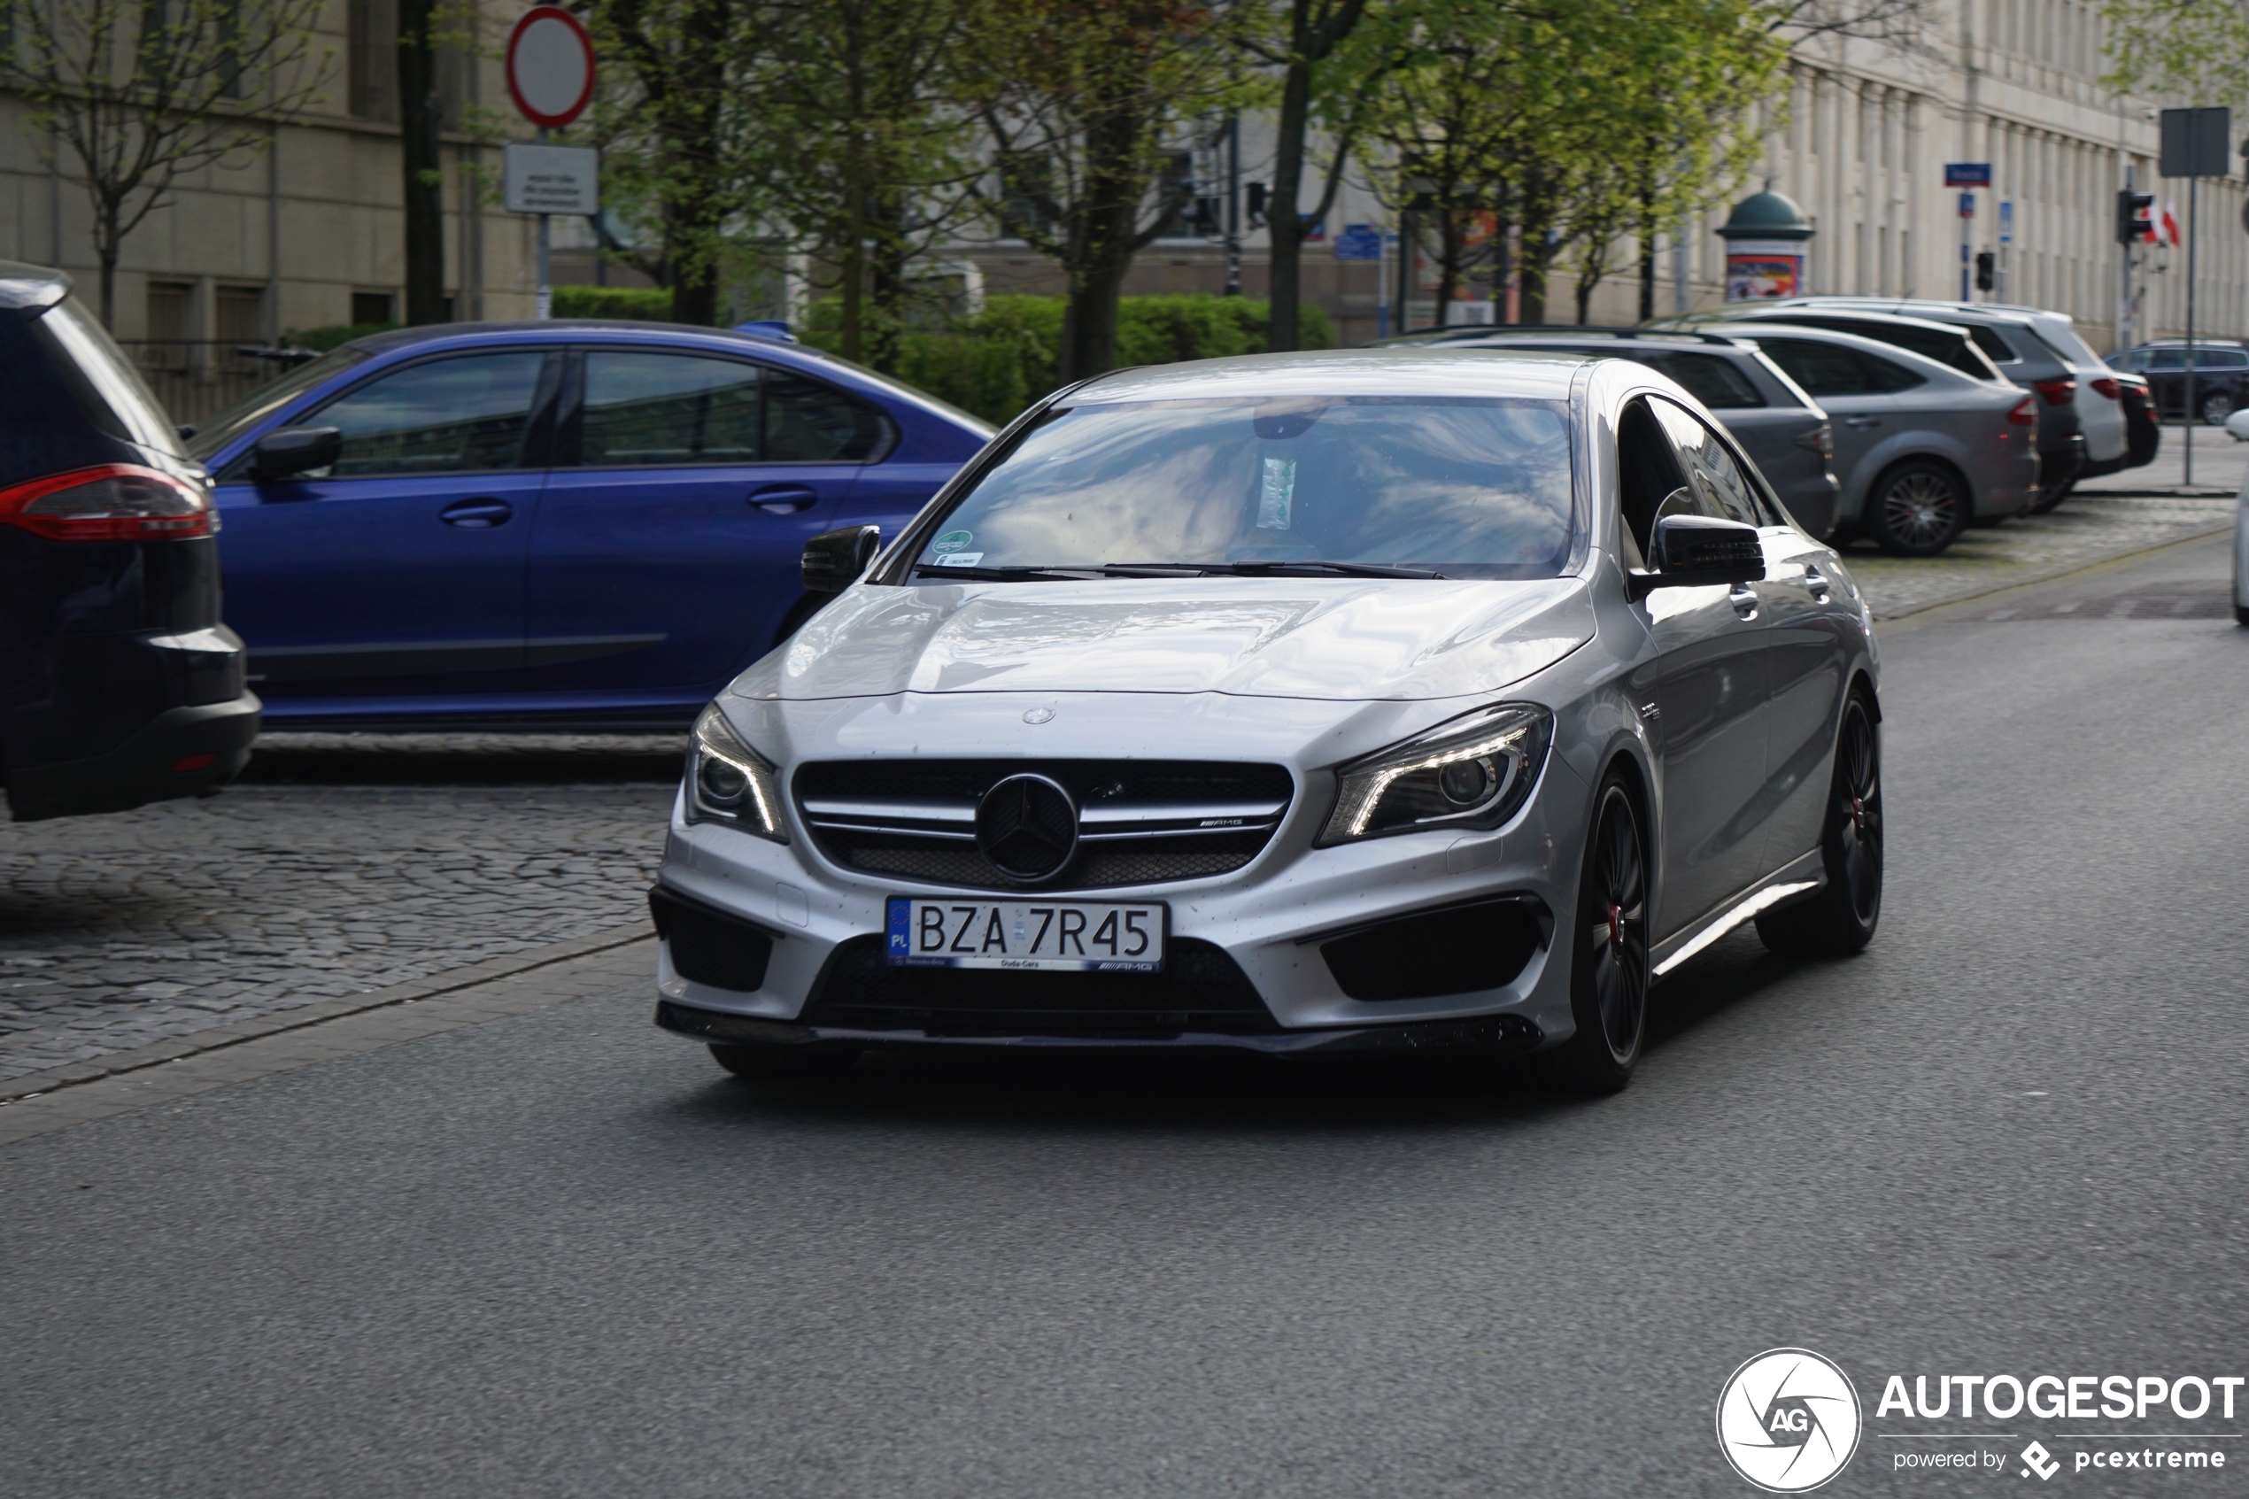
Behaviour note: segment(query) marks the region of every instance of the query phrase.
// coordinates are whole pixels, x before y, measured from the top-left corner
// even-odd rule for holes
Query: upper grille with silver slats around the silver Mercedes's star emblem
[[[976,805],[1010,775],[1077,805],[1077,854],[1014,881],[976,845]],[[1194,760],[850,760],[796,771],[796,805],[837,863],[965,890],[1100,890],[1232,874],[1280,827],[1295,782],[1277,764]]]

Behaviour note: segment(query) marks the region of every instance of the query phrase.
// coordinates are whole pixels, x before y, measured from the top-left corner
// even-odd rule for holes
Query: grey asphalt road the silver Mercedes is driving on
[[[1727,1373],[2249,1373],[2249,629],[2224,551],[1885,636],[1889,903],[1534,1079],[877,1061],[762,1092],[641,987],[0,1151],[18,1499],[1750,1495]],[[2200,600],[2164,618],[2119,598]],[[2056,602],[2076,600],[2074,611]],[[2013,602],[2015,616],[1981,618]],[[2195,614],[2202,618],[2195,618]],[[1961,1447],[1961,1443],[1952,1443]],[[1966,1443],[1975,1447],[1977,1443]]]

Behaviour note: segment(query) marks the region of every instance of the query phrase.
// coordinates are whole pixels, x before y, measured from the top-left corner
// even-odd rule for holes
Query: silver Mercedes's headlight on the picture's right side
[[[1523,811],[1554,715],[1536,703],[1478,708],[1336,771],[1336,811],[1318,845],[1435,827],[1498,827]]]

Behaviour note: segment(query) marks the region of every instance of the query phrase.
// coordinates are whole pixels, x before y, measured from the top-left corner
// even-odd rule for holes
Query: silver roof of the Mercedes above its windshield
[[[1599,355],[1511,353],[1457,344],[1320,348],[1147,364],[1095,375],[1059,405],[1127,400],[1223,400],[1286,396],[1516,396],[1565,400],[1577,373]]]

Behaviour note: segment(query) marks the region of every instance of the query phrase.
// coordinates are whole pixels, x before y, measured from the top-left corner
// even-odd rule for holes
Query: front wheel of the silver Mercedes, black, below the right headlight
[[[1633,1081],[1649,1029],[1649,845],[1640,809],[1610,771],[1592,798],[1592,832],[1577,874],[1570,924],[1570,1016],[1577,1034],[1559,1054],[1563,1081],[1610,1094]]]

